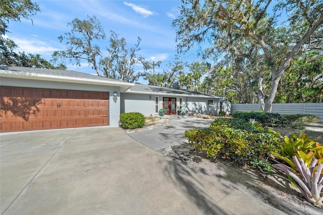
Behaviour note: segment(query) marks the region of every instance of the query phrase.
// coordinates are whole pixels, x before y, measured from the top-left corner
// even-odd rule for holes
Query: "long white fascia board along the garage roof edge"
[[[0,71],[0,77],[9,77],[9,78],[24,78],[24,79],[35,79],[35,80],[46,80],[46,81],[61,81],[61,82],[71,82],[71,83],[91,83],[99,85],[110,85],[110,86],[120,86],[123,90],[127,90],[129,87],[134,86],[134,83],[128,82],[119,82],[119,81],[110,81],[110,80],[96,80],[88,78],[76,78],[69,76],[57,76],[57,75],[47,75],[40,73],[31,73],[31,72],[8,72]]]

